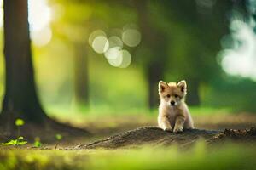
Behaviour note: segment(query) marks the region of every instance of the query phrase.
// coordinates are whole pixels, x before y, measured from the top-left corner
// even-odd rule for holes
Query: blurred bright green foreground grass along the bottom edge
[[[256,146],[225,144],[192,149],[1,150],[0,169],[255,169]]]

